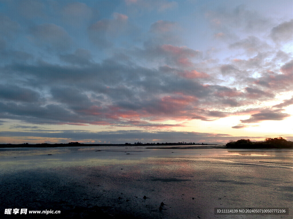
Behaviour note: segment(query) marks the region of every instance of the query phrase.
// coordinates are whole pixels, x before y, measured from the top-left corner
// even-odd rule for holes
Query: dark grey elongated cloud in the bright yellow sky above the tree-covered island
[[[252,114],[249,119],[240,120],[242,123],[257,123],[264,120],[283,120],[289,117],[290,114],[280,112],[280,109],[276,110],[261,110],[259,113]]]

